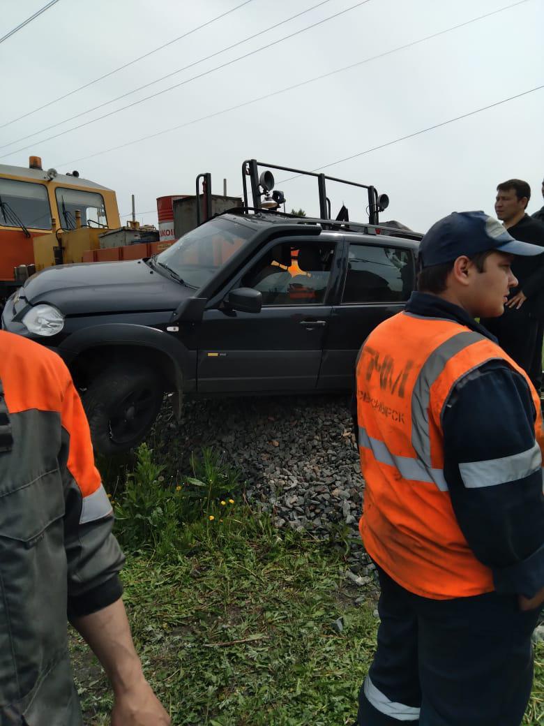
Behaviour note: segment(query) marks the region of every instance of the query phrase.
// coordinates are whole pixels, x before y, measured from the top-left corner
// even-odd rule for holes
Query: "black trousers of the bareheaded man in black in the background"
[[[498,318],[482,319],[482,325],[495,335],[503,351],[529,375],[540,393],[542,384],[543,324],[520,310],[504,309]]]

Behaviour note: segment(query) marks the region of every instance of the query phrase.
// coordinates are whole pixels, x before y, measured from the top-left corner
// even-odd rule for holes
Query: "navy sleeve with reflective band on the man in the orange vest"
[[[524,378],[503,362],[458,383],[442,415],[444,473],[453,510],[497,592],[544,586],[542,457]]]

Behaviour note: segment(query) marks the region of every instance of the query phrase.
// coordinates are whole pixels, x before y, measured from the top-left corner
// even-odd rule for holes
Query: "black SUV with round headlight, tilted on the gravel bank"
[[[418,239],[244,207],[154,258],[46,269],[2,326],[62,356],[112,454],[144,438],[165,391],[179,414],[185,393],[350,389],[363,340],[413,289]]]

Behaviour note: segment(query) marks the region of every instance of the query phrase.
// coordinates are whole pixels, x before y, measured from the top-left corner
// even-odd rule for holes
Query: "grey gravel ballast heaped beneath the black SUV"
[[[220,449],[247,482],[247,499],[279,528],[357,529],[364,485],[349,396],[186,399],[181,421],[167,403],[156,431],[155,448],[174,454],[180,471],[191,452]]]

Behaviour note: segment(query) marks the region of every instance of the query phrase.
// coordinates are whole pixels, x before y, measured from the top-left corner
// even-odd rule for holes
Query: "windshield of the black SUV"
[[[255,232],[231,219],[212,219],[187,232],[157,262],[176,272],[190,287],[202,287]]]

